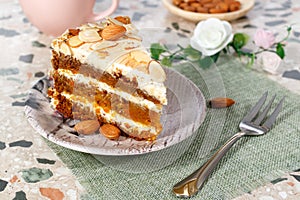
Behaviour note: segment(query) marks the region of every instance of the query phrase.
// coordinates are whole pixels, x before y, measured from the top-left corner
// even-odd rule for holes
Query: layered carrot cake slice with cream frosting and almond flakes
[[[128,17],[69,29],[52,42],[51,104],[66,118],[95,119],[136,139],[162,131],[166,74]]]

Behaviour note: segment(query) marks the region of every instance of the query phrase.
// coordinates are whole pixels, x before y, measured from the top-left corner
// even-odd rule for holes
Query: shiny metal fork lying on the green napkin
[[[266,117],[275,99],[275,96],[273,96],[263,111],[259,113],[267,96],[268,92],[265,92],[256,105],[253,106],[249,113],[243,118],[239,124],[240,132],[233,135],[202,167],[174,185],[173,192],[177,197],[187,198],[197,194],[221,158],[241,137],[263,135],[271,129],[271,126],[281,111],[284,98],[280,100],[273,113],[269,117]]]

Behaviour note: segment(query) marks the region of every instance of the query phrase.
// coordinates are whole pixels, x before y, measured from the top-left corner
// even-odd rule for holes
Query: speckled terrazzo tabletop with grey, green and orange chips
[[[95,9],[105,5],[97,1]],[[28,90],[50,68],[53,38],[30,24],[18,1],[1,0],[0,11],[0,199],[79,199],[83,187],[24,117]],[[195,27],[195,23],[170,14],[160,0],[121,1],[115,15],[130,16],[138,28],[167,28],[183,38],[190,37]],[[234,31],[249,35],[257,27],[280,34],[293,24],[284,65],[278,74],[268,77],[298,94],[299,18],[300,1],[257,0],[247,17],[232,22]],[[300,169],[236,198],[244,199],[300,199]]]

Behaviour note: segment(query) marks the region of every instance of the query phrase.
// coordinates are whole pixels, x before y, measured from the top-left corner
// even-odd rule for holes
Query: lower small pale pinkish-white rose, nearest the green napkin
[[[257,63],[263,70],[276,74],[281,64],[281,58],[276,53],[264,51],[257,55]]]

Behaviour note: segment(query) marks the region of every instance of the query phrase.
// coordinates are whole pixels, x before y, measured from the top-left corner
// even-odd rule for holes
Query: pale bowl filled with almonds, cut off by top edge
[[[198,22],[211,17],[232,21],[247,14],[255,0],[162,0],[173,14]]]

